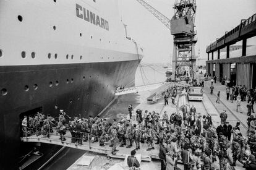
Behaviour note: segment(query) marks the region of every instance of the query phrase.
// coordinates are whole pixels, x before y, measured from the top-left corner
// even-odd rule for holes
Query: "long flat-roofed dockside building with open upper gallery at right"
[[[247,39],[256,35],[256,14],[241,23],[233,30],[225,32],[221,38],[207,46],[207,73],[216,75],[220,82],[230,80],[231,85],[256,87],[256,46],[247,46]],[[242,48],[231,51],[230,46],[242,41]],[[226,53],[220,52],[225,49]],[[217,59],[213,54],[217,52]],[[211,59],[210,59],[211,58]]]

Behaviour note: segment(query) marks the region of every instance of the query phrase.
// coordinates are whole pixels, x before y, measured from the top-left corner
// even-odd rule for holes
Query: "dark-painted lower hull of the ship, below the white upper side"
[[[96,116],[114,98],[117,86],[134,85],[138,60],[0,66],[1,166],[17,168],[20,150],[20,120],[25,114],[58,116],[64,109],[69,116]],[[15,152],[14,152],[15,151]]]

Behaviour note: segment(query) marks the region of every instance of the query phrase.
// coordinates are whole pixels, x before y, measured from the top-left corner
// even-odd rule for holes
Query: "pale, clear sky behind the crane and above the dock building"
[[[174,15],[175,0],[145,2],[169,19]],[[119,6],[122,21],[127,25],[127,35],[143,48],[142,62],[170,62],[173,56],[173,36],[170,30],[136,0],[119,0]],[[198,41],[195,55],[200,51],[200,58],[207,58],[205,50],[210,43],[239,25],[241,19],[248,19],[255,13],[255,0],[197,0],[195,30]],[[241,42],[237,45],[241,45]],[[256,45],[256,36],[247,40],[247,45]]]

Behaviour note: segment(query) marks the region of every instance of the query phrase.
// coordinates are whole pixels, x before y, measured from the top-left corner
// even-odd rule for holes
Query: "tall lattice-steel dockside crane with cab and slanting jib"
[[[182,69],[189,69],[190,77],[194,79],[195,72],[195,38],[194,22],[196,12],[195,0],[176,0],[173,6],[175,11],[173,18],[170,20],[150,6],[143,0],[136,0],[142,4],[151,14],[162,22],[174,35],[173,46],[173,70],[172,79],[176,80],[182,75]]]

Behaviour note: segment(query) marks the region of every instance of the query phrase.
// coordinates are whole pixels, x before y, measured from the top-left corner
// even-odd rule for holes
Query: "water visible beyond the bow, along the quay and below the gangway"
[[[135,86],[164,82],[166,80],[165,72],[166,69],[161,66],[138,67],[135,75]],[[128,114],[128,105],[132,104],[135,108],[142,100],[147,98],[149,93],[150,91],[143,93],[142,95],[130,93],[119,96],[119,98],[117,98],[114,103],[101,114],[101,117],[108,119],[109,122],[113,121],[113,119],[121,121],[121,119]],[[147,108],[142,109],[145,110]],[[67,169],[85,153],[87,153],[87,151],[66,147],[42,169]]]

